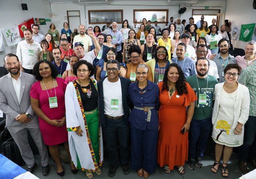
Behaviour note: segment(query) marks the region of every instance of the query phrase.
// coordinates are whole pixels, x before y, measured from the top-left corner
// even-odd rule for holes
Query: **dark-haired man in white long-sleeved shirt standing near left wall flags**
[[[32,39],[32,31],[23,31],[26,40],[18,43],[16,55],[20,60],[20,70],[32,75],[33,67],[37,63],[37,52],[42,51],[40,44]]]

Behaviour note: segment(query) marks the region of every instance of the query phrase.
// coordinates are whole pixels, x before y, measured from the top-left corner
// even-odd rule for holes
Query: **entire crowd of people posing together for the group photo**
[[[27,130],[39,149],[44,176],[50,172],[46,145],[57,174],[64,175],[61,143],[72,173],[83,170],[88,178],[101,174],[103,135],[110,177],[115,176],[119,162],[124,174],[131,168],[144,178],[155,172],[157,163],[165,173],[176,167],[184,174],[185,161],[192,170],[203,167],[211,129],[216,143],[213,173],[223,152],[221,174],[228,177],[227,164],[237,146],[241,171],[248,173],[247,160],[256,168],[256,42],[248,42],[245,56],[235,58],[228,53],[226,38],[218,37],[216,46],[202,37],[204,32],[200,38],[199,33],[195,36],[197,24],[190,25],[185,34],[178,27],[172,40],[169,36],[177,24],[171,23],[171,30],[158,29],[163,35],[158,40],[156,29],[147,27],[146,19],[137,32],[132,29],[136,25],[128,30],[124,21],[121,32],[113,22],[106,37],[99,27],[85,35],[85,26],[80,25],[73,38],[64,23],[70,39],[68,35],[59,39],[57,47],[51,38],[49,42],[55,44],[51,51],[47,37],[41,45],[35,41],[38,26],[33,26],[33,32],[24,30],[25,40],[19,42],[16,55],[4,58],[9,74],[0,78],[6,84],[0,86],[0,109],[28,171],[32,173],[37,164]],[[53,37],[51,32],[58,36],[54,24],[50,28],[48,37]],[[211,29],[210,35],[216,36],[216,25]],[[109,41],[104,45],[105,39]],[[192,39],[198,39],[196,45],[189,44]],[[220,53],[208,55],[212,45]]]

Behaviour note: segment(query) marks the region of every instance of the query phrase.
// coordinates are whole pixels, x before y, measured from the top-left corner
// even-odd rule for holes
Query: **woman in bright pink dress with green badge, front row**
[[[46,60],[35,64],[33,75],[38,81],[31,87],[31,106],[38,115],[39,128],[44,143],[49,145],[50,154],[57,164],[57,174],[59,176],[64,175],[59,152],[59,144],[61,143],[64,144],[69,155],[72,173],[76,173],[76,167],[71,163],[66,130],[64,94],[67,83],[62,78],[57,78],[57,69]]]

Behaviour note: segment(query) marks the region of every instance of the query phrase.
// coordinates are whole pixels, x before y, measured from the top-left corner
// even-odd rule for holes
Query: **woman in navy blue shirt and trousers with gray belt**
[[[129,116],[131,123],[131,168],[148,178],[156,170],[156,144],[158,133],[159,88],[147,80],[148,67],[136,68],[137,82],[130,84],[128,99],[134,107]]]

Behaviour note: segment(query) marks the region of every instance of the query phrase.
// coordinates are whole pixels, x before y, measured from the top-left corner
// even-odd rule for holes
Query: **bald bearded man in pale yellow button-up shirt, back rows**
[[[85,30],[86,30],[85,26],[80,25],[78,30],[79,30],[79,35],[76,35],[74,37],[73,45],[75,45],[76,42],[80,42],[81,44],[84,45],[85,53],[89,52],[89,49],[92,45],[92,40],[88,35],[85,34]]]

